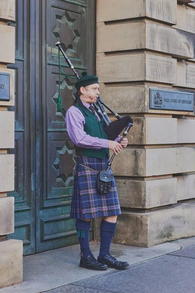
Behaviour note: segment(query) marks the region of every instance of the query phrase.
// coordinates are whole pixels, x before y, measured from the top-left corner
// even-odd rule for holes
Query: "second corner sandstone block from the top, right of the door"
[[[98,23],[97,40],[97,52],[149,49],[183,58],[195,58],[194,34],[150,21],[106,25],[104,22]]]

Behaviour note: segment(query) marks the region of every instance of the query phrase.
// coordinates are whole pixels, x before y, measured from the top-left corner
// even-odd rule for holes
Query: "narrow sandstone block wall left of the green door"
[[[15,63],[15,28],[7,23],[14,20],[15,0],[0,0],[0,73],[10,74],[10,101],[0,93],[0,288],[22,282],[22,241],[7,239],[14,232],[14,197],[7,197],[14,190],[14,155],[7,153],[14,148],[14,112],[7,111],[14,105],[14,71],[7,63]]]

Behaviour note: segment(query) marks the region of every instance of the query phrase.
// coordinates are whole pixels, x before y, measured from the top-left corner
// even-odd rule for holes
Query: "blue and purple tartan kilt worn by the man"
[[[97,172],[106,171],[108,159],[78,157],[78,163]],[[113,186],[108,193],[100,193],[96,188],[97,173],[76,164],[70,217],[74,219],[91,219],[121,214],[117,188],[113,177]],[[111,168],[109,169],[111,171]]]

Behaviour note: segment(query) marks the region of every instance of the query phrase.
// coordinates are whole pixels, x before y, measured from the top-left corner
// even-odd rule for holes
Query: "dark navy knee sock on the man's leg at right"
[[[104,220],[100,225],[100,250],[99,257],[103,258],[110,251],[111,241],[117,228],[117,222],[111,223]]]

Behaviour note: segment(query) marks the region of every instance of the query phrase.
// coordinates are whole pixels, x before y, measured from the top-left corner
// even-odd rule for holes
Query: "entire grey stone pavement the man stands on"
[[[91,248],[98,255],[99,243]],[[24,282],[0,293],[195,293],[195,237],[151,248],[112,244],[125,271],[78,267],[79,246],[24,257]]]

